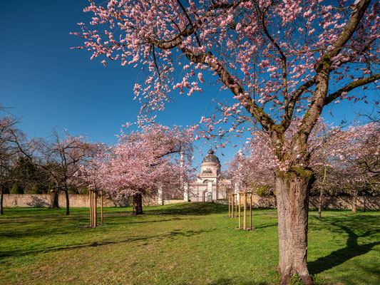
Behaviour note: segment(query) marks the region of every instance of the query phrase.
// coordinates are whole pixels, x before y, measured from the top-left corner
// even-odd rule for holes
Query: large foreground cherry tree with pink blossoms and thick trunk
[[[313,181],[307,140],[323,108],[380,78],[379,2],[370,0],[110,0],[85,9],[80,48],[93,56],[146,66],[136,84],[145,110],[162,110],[170,90],[201,91],[214,76],[225,92],[220,115],[203,118],[208,131],[232,120],[257,123],[279,160],[276,177],[281,283],[307,269],[308,192]],[[175,61],[177,58],[177,61]],[[180,72],[179,72],[180,71]],[[208,79],[208,78],[207,78]],[[207,80],[207,82],[210,82]],[[297,131],[284,147],[294,118]],[[208,137],[207,133],[203,133]]]

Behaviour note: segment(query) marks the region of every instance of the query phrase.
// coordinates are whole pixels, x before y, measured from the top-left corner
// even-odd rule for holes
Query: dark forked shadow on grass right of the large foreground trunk
[[[339,223],[342,223],[342,221],[339,221]],[[339,266],[353,257],[358,257],[362,254],[370,252],[376,245],[380,244],[380,242],[370,242],[361,245],[358,244],[359,238],[371,237],[371,235],[379,233],[378,229],[370,229],[364,232],[364,234],[356,234],[352,229],[346,227],[345,225],[338,224],[338,222],[332,222],[330,225],[339,227],[339,229],[342,229],[342,231],[349,235],[346,241],[346,247],[338,249],[326,257],[320,257],[315,261],[308,262],[307,266],[312,274],[319,274],[325,270]]]

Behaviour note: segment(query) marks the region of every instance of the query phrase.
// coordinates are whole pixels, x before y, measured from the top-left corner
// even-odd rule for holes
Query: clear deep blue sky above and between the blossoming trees
[[[79,31],[76,23],[88,23],[84,14],[87,0],[5,1],[0,9],[0,103],[22,117],[19,128],[30,137],[46,137],[51,128],[67,128],[69,133],[83,134],[91,141],[115,142],[121,125],[135,121],[140,105],[133,101],[133,86],[138,71],[120,66],[120,61],[104,67],[100,60],[90,61],[91,53],[72,50],[81,40],[71,36]],[[178,95],[158,120],[164,125],[190,125],[210,110],[208,103],[218,88],[207,87],[204,93]],[[349,103],[333,104],[334,118],[340,123],[353,112]],[[325,113],[330,109],[327,108]],[[241,140],[244,142],[245,140]],[[237,145],[240,140],[237,140]],[[208,148],[203,148],[206,153]],[[220,156],[222,164],[237,151],[227,148]],[[220,152],[217,152],[220,154]],[[195,165],[202,157],[195,153]]]

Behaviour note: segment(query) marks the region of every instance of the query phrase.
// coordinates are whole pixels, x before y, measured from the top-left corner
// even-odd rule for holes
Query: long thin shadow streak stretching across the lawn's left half
[[[118,241],[99,241],[99,242],[91,242],[86,244],[68,244],[58,247],[43,247],[41,249],[14,249],[9,251],[1,251],[0,252],[0,261],[1,259],[5,259],[7,257],[23,257],[30,254],[41,254],[41,253],[48,253],[48,252],[60,252],[60,251],[66,251],[66,250],[74,250],[74,249],[83,249],[83,248],[91,248],[91,247],[102,247],[108,244],[123,244],[123,243],[133,243],[133,242],[144,242],[143,244],[135,244],[136,247],[147,245],[149,241],[161,241],[161,240],[167,240],[169,242],[173,242],[176,239],[180,239],[182,237],[192,237],[197,234],[204,234],[207,232],[213,232],[215,229],[205,229],[205,230],[199,230],[199,231],[183,231],[180,229],[174,229],[173,231],[170,231],[165,234],[156,234],[152,236],[146,236],[146,237],[130,237],[128,239],[118,240]]]

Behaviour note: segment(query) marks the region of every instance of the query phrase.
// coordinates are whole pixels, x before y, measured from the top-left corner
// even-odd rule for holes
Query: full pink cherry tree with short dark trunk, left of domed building
[[[118,144],[94,160],[98,170],[94,180],[115,199],[133,197],[133,214],[143,214],[143,196],[158,195],[159,188],[164,190],[187,175],[191,138],[190,130],[157,124],[122,132]]]

